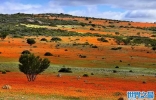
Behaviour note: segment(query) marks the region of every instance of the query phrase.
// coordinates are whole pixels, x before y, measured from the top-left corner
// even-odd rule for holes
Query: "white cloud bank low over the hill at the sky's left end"
[[[22,4],[17,2],[3,2],[0,4],[0,13],[63,13],[64,10],[57,6],[39,5],[39,4]]]

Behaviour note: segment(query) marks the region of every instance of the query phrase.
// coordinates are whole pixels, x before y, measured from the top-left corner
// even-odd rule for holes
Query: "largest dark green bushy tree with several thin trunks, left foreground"
[[[19,70],[23,72],[28,81],[34,81],[36,76],[47,69],[50,61],[47,58],[40,58],[34,54],[23,54],[19,58]]]

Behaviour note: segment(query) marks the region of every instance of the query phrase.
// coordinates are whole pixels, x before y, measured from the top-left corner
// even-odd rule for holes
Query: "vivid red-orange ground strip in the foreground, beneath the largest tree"
[[[140,76],[135,77],[110,78],[110,77],[81,77],[76,75],[65,75],[56,77],[56,74],[38,75],[36,81],[28,82],[22,73],[0,74],[0,86],[11,85],[11,90],[0,89],[0,94],[6,91],[10,93],[41,94],[41,95],[60,95],[79,98],[103,100],[117,100],[119,97],[126,98],[127,91],[156,91],[156,78]],[[146,84],[142,80],[146,80]],[[117,96],[117,92],[121,93]],[[107,98],[107,99],[104,99]],[[126,100],[126,99],[125,99]]]

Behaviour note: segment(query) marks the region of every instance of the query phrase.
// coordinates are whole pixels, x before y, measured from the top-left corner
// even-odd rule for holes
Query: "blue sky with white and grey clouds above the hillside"
[[[66,13],[155,22],[155,5],[156,0],[0,0],[0,13]]]

